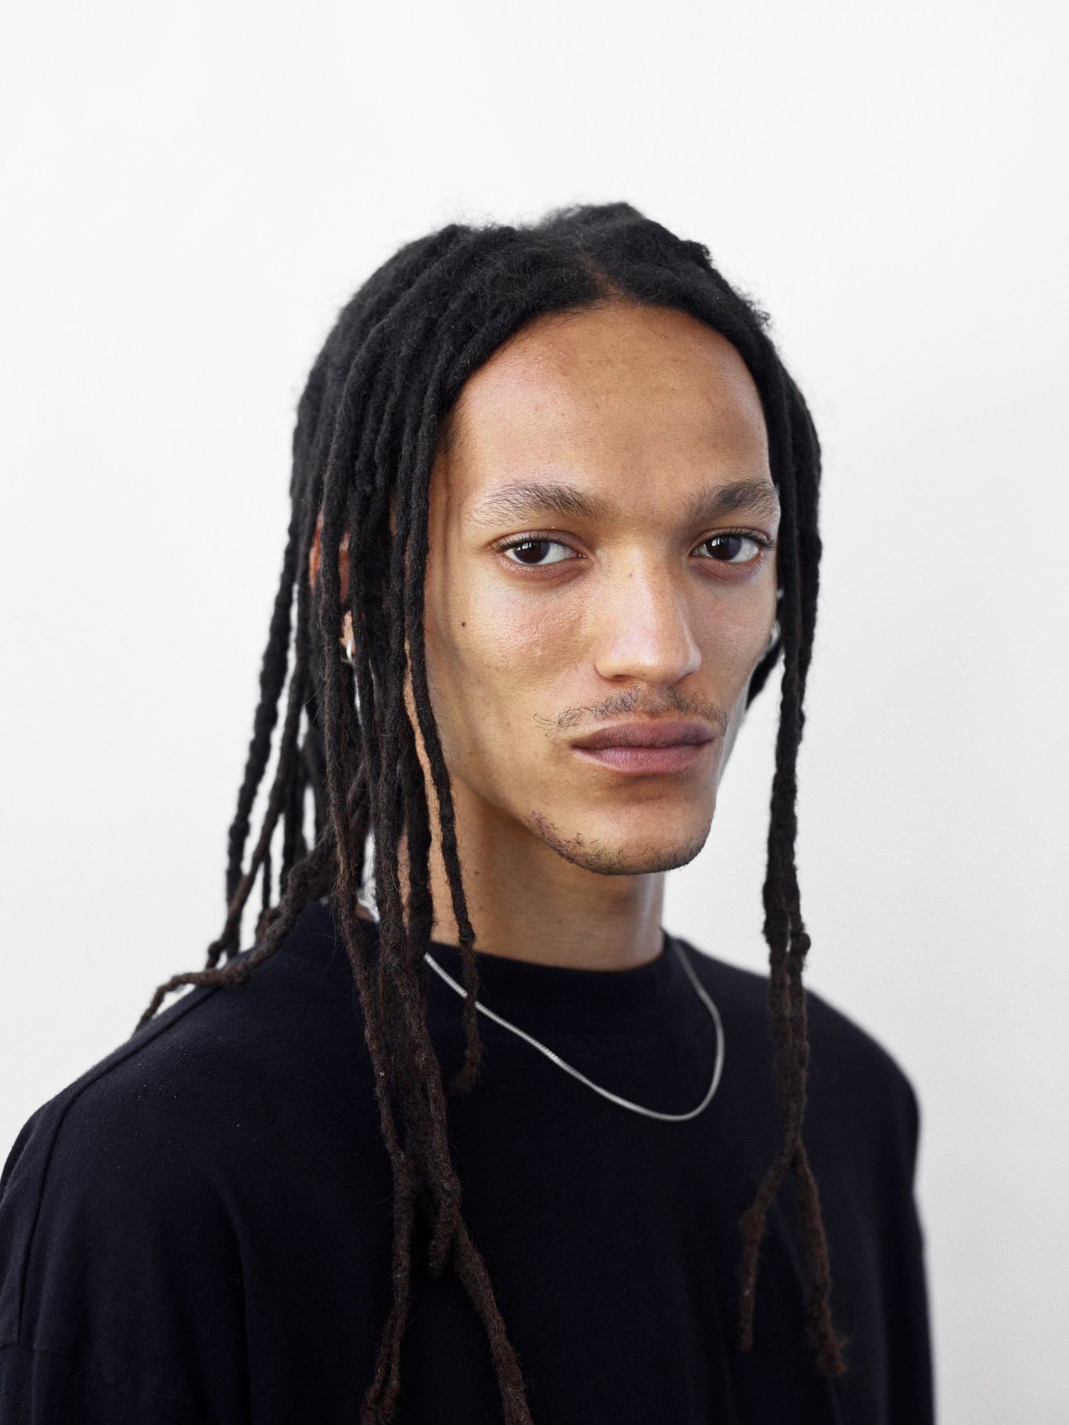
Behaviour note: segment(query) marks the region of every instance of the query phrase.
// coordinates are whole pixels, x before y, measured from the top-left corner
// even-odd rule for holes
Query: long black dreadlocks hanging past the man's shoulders
[[[446,1137],[446,1094],[428,1033],[423,952],[430,942],[430,807],[416,752],[433,784],[466,989],[463,1066],[479,1069],[475,933],[456,846],[453,799],[428,693],[423,570],[428,492],[445,422],[465,380],[526,322],[567,308],[631,301],[677,308],[720,332],[745,361],[761,396],[771,469],[783,506],[778,540],[780,640],[751,684],[761,690],[783,653],[780,730],[764,884],[770,1003],[781,1144],[743,1217],[740,1345],[753,1344],[758,1251],[770,1206],[790,1171],[810,1268],[808,1324],[821,1368],[844,1369],[831,1322],[828,1248],[817,1184],[801,1139],[808,1043],[802,966],[810,936],[795,869],[795,760],[817,614],[820,447],[805,402],[765,333],[697,242],[684,242],[626,204],[552,214],[532,227],[452,225],[402,248],[342,311],[298,408],[292,517],[259,678],[245,778],[229,829],[227,916],[207,968],[175,975],[141,1020],[182,985],[241,985],[275,953],[308,902],[329,891],[363,1007],[382,1134],[393,1168],[393,1304],[379,1341],[363,1425],[389,1421],[399,1391],[409,1314],[416,1211],[430,1223],[428,1265],[456,1273],[493,1352],[507,1425],[530,1425],[523,1379],[486,1267],[460,1214]],[[309,553],[319,522],[315,590]],[[352,661],[341,657],[339,556],[348,540]],[[291,657],[292,644],[292,657]],[[282,691],[289,683],[277,771],[245,864]],[[405,703],[410,683],[413,727]],[[315,841],[306,845],[312,801]],[[281,822],[281,838],[277,838]],[[368,838],[381,950],[371,965],[356,913]],[[408,845],[402,898],[399,844]],[[279,899],[272,845],[281,839]],[[252,949],[238,956],[242,913],[257,878],[262,909]],[[220,963],[222,962],[222,963]]]

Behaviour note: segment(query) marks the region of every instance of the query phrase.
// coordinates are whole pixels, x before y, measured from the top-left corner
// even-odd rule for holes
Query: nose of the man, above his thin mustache
[[[668,570],[630,561],[606,576],[594,608],[594,667],[603,678],[664,687],[701,665],[684,591]]]

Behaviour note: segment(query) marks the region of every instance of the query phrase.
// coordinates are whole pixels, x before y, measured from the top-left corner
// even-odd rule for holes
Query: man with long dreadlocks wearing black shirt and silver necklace
[[[931,1418],[915,1100],[801,986],[817,484],[760,316],[624,205],[356,295],[222,933],[9,1161],[4,1421]],[[781,651],[765,985],[660,919]]]

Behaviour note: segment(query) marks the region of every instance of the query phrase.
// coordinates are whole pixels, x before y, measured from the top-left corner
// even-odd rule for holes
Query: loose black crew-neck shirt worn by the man
[[[485,1016],[482,1074],[450,1099],[465,1218],[536,1425],[926,1425],[908,1082],[810,996],[805,1140],[849,1371],[822,1377],[805,1341],[790,1183],[743,1355],[737,1224],[777,1143],[765,982],[683,948],[725,1033],[697,1119],[617,1107]],[[459,973],[456,950],[435,953]],[[489,1007],[596,1083],[661,1112],[701,1102],[716,1033],[670,945],[623,972],[499,956],[480,970]],[[460,1010],[429,973],[446,1073]],[[247,986],[187,995],[20,1134],[0,1200],[0,1421],[355,1425],[391,1241],[359,1005],[315,903]],[[450,1275],[416,1274],[399,1418],[502,1419],[485,1331]]]

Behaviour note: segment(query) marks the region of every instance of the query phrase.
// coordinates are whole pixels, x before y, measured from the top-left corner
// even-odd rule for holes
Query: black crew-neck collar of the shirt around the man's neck
[[[295,935],[295,949],[306,958],[335,963],[348,978],[349,962],[329,903],[316,901],[309,906],[311,911],[316,911],[315,919],[322,921],[319,925],[299,926],[311,933]],[[378,921],[361,916],[361,928],[368,956],[375,959],[379,946]],[[688,1006],[697,1010],[696,1017],[701,1023],[707,1017],[704,1006],[678,960],[678,953],[688,952],[680,946],[677,953],[676,945],[680,942],[667,931],[661,931],[661,938],[660,955],[644,965],[620,970],[543,965],[477,950],[479,1000],[529,1030],[552,1026],[586,1035],[633,1035],[678,1019]],[[458,946],[432,940],[430,955],[455,980],[462,980]],[[460,1005],[456,992],[429,966],[428,1002],[432,1012],[445,1006],[452,1013]]]

